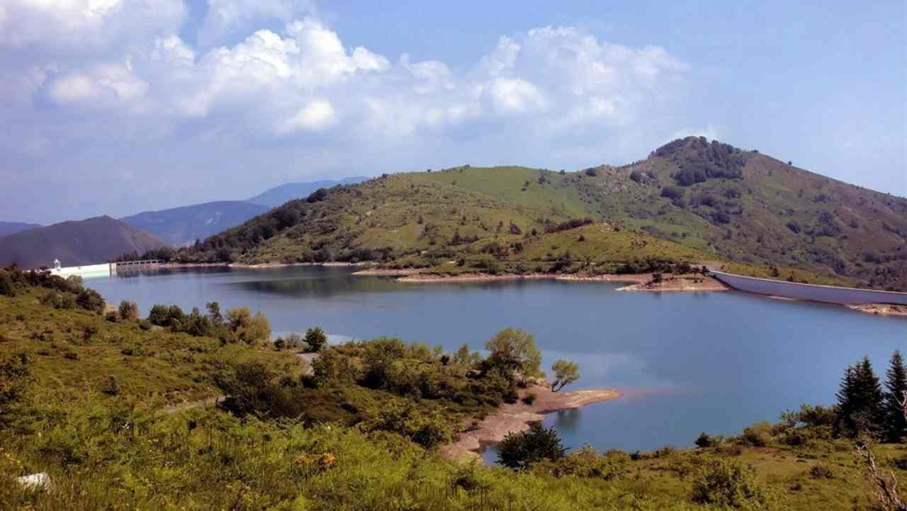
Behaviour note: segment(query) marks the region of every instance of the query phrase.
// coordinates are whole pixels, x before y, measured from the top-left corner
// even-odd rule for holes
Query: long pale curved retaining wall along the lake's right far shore
[[[907,305],[907,293],[901,292],[800,284],[797,282],[787,282],[785,280],[744,277],[742,275],[715,270],[712,271],[712,274],[717,280],[721,280],[736,290],[782,298],[823,301],[840,305],[859,305],[862,303],[895,303]]]

